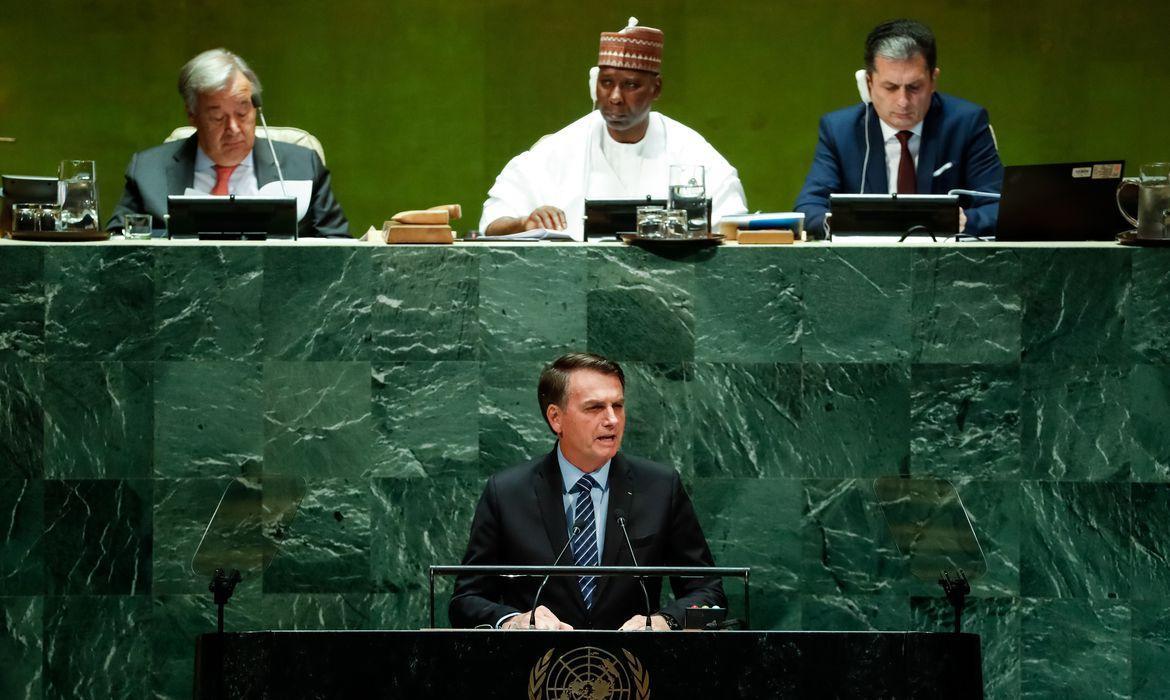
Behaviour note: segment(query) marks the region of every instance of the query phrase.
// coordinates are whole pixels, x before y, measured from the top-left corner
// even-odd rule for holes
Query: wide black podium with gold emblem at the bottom
[[[221,666],[222,664],[222,666]],[[977,634],[208,633],[195,698],[983,698]]]

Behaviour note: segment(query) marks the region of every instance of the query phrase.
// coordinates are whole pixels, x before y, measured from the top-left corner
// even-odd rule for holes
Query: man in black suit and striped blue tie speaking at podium
[[[710,548],[679,473],[622,454],[625,375],[615,362],[570,354],[541,372],[537,394],[557,435],[552,451],[488,480],[464,565],[711,567]],[[627,545],[621,522],[631,544]],[[559,557],[558,557],[559,553]],[[559,558],[559,561],[558,561]],[[461,576],[448,613],[457,627],[529,629],[538,577]],[[655,630],[677,629],[690,605],[724,606],[718,578],[646,579]],[[541,630],[641,630],[646,601],[628,576],[553,576],[541,593]]]

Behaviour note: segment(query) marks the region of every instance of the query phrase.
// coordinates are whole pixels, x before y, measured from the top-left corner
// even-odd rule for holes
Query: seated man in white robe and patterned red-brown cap
[[[548,228],[584,239],[586,199],[666,199],[672,165],[702,165],[711,221],[748,211],[735,167],[695,130],[652,111],[662,92],[662,33],[601,34],[597,109],[512,158],[483,203],[480,231]]]

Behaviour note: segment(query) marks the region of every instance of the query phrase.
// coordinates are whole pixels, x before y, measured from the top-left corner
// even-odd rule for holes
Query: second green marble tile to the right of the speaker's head
[[[800,476],[800,365],[695,365],[690,387],[698,476]]]

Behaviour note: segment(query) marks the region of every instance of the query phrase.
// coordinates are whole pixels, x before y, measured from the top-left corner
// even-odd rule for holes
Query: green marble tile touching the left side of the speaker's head
[[[552,449],[536,384],[546,361],[480,365],[480,473],[510,467]]]

